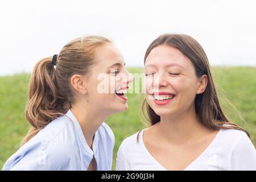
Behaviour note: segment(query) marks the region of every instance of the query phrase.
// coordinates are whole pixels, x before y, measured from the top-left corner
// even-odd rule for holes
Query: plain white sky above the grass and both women
[[[163,33],[191,35],[210,65],[256,66],[256,3],[193,1],[1,1],[0,75],[31,72],[74,38],[101,35],[121,49],[127,67],[143,67]]]

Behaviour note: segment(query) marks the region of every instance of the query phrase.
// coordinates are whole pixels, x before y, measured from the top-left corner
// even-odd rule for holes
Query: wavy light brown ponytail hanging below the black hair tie
[[[67,99],[57,92],[55,68],[52,57],[40,60],[34,67],[28,89],[29,101],[26,108],[27,121],[32,125],[21,146],[34,137],[49,122],[67,112]]]

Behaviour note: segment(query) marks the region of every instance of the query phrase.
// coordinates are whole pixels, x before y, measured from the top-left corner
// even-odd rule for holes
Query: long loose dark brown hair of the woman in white
[[[222,112],[214,86],[212,73],[210,72],[209,61],[203,47],[201,47],[195,39],[188,35],[160,35],[147,48],[144,56],[144,64],[150,51],[160,45],[172,46],[179,49],[183,55],[193,63],[197,77],[207,75],[208,84],[205,92],[197,94],[195,98],[196,113],[199,116],[200,121],[206,127],[212,130],[237,129],[245,131],[245,133],[250,137],[249,133],[245,129],[242,129],[242,127],[232,123],[230,119],[228,119]],[[147,114],[145,114],[145,111]],[[142,114],[144,118],[151,123],[151,125],[154,125],[160,121],[160,116],[154,112],[150,105],[147,104],[146,100],[144,100],[142,103]]]

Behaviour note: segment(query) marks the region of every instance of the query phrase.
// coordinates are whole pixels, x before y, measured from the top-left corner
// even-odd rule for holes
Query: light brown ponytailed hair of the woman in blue
[[[28,89],[29,101],[26,118],[31,129],[20,146],[28,142],[48,123],[67,113],[75,101],[70,78],[86,75],[97,62],[96,49],[110,42],[101,36],[86,36],[72,40],[57,56],[57,64],[52,64],[52,56],[40,60],[34,67]]]

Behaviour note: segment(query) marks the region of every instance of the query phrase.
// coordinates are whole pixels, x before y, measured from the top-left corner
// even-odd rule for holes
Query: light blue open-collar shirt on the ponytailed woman
[[[93,156],[98,170],[111,170],[114,134],[106,123],[96,131],[92,148],[68,110],[20,147],[3,170],[87,170]]]

